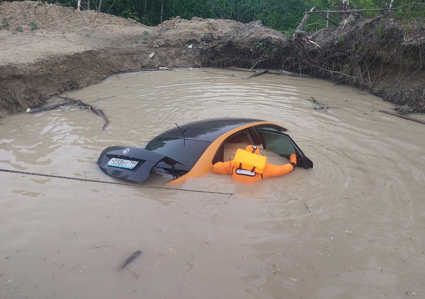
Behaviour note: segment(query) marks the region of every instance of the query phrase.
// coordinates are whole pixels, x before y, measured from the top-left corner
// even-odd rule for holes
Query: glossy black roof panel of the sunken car
[[[176,126],[154,138],[186,138],[212,142],[224,133],[249,123],[263,121],[255,118],[212,118]]]

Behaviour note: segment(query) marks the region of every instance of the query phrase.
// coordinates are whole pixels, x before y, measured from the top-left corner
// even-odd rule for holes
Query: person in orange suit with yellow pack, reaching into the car
[[[212,166],[213,173],[232,174],[238,182],[253,183],[262,178],[284,176],[295,169],[297,154],[289,158],[291,162],[284,165],[266,163],[266,157],[260,156],[260,149],[255,145],[248,145],[245,151],[241,148],[236,151],[235,158],[228,162],[217,162]]]

